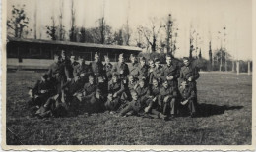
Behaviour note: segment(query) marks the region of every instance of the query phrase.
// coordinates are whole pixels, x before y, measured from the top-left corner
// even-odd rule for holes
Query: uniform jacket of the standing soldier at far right
[[[183,66],[180,70],[180,80],[187,80],[189,77],[192,77],[192,81],[195,81],[199,78],[198,68],[193,67],[191,64],[186,67]]]

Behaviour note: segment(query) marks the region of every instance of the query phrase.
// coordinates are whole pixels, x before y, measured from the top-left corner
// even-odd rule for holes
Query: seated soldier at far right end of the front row
[[[196,103],[196,93],[191,85],[188,85],[187,81],[182,81],[179,87],[179,92],[181,96],[180,105],[183,107],[188,107],[190,117],[196,115],[197,103]]]

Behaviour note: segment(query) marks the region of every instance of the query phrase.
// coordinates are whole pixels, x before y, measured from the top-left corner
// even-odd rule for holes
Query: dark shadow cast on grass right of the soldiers
[[[224,114],[224,111],[227,110],[239,110],[242,109],[243,106],[219,106],[213,104],[199,104],[198,105],[198,117],[209,117],[213,115],[221,115]]]

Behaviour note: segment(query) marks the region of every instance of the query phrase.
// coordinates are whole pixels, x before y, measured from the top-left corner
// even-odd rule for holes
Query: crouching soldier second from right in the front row
[[[159,105],[164,115],[175,117],[177,111],[176,98],[176,87],[169,85],[167,78],[163,79],[162,87],[160,88]],[[168,109],[170,110],[169,114],[167,112]]]

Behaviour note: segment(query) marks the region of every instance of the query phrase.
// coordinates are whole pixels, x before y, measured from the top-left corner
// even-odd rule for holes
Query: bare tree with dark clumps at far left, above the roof
[[[24,8],[25,5],[21,8],[17,8],[13,5],[12,18],[7,20],[7,28],[12,30],[11,32],[8,32],[9,35],[22,38],[24,29],[28,28],[29,18],[26,16]]]

